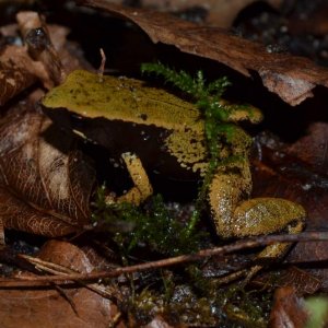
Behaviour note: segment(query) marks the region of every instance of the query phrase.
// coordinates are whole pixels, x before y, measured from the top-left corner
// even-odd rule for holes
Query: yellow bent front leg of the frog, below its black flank
[[[138,206],[153,194],[153,188],[140,159],[131,153],[124,153],[121,156],[134,186],[116,200],[109,197],[106,201],[129,202]]]

